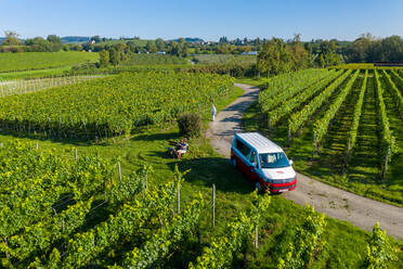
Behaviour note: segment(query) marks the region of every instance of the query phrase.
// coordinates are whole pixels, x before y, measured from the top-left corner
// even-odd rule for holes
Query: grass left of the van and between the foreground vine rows
[[[234,101],[242,94],[242,90],[236,88],[234,93],[226,100],[217,104],[218,110],[222,110],[226,104]],[[253,106],[256,107],[256,106]],[[252,110],[253,110],[252,107]],[[250,113],[247,117],[250,117]],[[248,118],[247,118],[248,119]],[[256,120],[256,118],[250,118]],[[205,119],[207,126],[207,118]],[[0,136],[0,141],[14,140],[14,137]],[[136,134],[130,141],[118,141],[112,145],[89,145],[72,144],[70,141],[52,142],[48,140],[39,141],[39,149],[53,149],[61,155],[74,156],[74,148],[78,149],[78,155],[100,154],[105,158],[119,161],[122,172],[129,174],[139,169],[143,164],[152,165],[155,174],[152,176],[150,184],[160,184],[172,179],[173,167],[178,165],[180,170],[192,169],[185,176],[182,188],[182,203],[200,192],[206,201],[210,201],[211,184],[217,185],[217,227],[211,231],[210,209],[207,206],[202,219],[202,241],[207,244],[211,236],[224,233],[225,225],[229,219],[238,215],[243,209],[249,207],[248,194],[253,191],[253,185],[247,181],[239,171],[234,170],[225,158],[219,156],[204,139],[193,139],[190,141],[190,152],[180,161],[171,158],[166,151],[169,140],[179,140],[177,127],[167,127],[165,130],[150,129]],[[36,143],[36,140],[23,139]],[[247,253],[248,268],[275,268],[277,258],[284,253],[287,243],[294,241],[296,227],[303,221],[302,207],[281,195],[272,196],[272,205],[266,213],[265,221],[260,229],[260,248]],[[361,256],[364,254],[365,241],[368,233],[358,229],[344,221],[327,218],[327,228],[324,234],[327,244],[324,251],[317,256],[314,268],[356,268]],[[198,252],[185,254],[187,265],[194,260]],[[171,259],[178,258],[174,255]],[[183,259],[179,257],[178,259]],[[173,262],[173,261],[172,261]],[[403,258],[395,268],[403,266]]]

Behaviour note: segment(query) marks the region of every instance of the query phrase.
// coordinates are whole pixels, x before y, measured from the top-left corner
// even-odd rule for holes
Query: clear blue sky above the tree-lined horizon
[[[0,36],[354,40],[403,36],[402,0],[0,0]]]

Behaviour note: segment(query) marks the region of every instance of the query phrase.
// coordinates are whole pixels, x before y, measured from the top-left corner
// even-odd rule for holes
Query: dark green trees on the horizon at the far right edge
[[[367,33],[348,46],[343,55],[348,63],[402,62],[403,39],[399,36],[380,39]]]

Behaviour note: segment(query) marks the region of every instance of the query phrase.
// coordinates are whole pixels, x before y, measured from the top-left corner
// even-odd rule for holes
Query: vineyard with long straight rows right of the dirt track
[[[387,74],[391,75],[390,72],[388,71]],[[335,84],[336,78],[322,82],[322,86],[321,81],[314,82],[312,79],[312,86],[310,86],[303,85],[303,79],[298,81],[295,75],[285,76],[280,81],[281,87],[299,89],[299,92],[296,91],[289,95],[271,94],[274,89],[278,88],[275,85],[275,79],[243,80],[243,82],[258,86],[266,86],[269,81],[268,90],[261,93],[261,105],[251,106],[245,114],[245,128],[249,131],[259,130],[276,143],[287,148],[288,123],[291,123],[291,143],[287,149],[287,154],[295,161],[298,171],[360,195],[402,206],[403,143],[401,138],[403,137],[403,123],[399,116],[396,103],[399,98],[396,91],[387,84],[386,75],[379,71],[378,73],[380,87],[384,89],[382,99],[386,118],[389,121],[388,129],[395,142],[389,139],[389,134],[384,136],[384,131],[381,132],[382,126],[386,125],[381,121],[377,106],[378,97],[374,71],[369,71],[366,78],[363,105],[360,110],[361,115],[355,131],[351,130],[351,127],[365,79],[364,71],[359,74],[355,80],[353,80],[352,74],[344,73],[347,76],[343,77],[337,75],[339,82],[335,85],[334,89],[330,89],[332,91],[328,91],[327,95],[324,95],[325,86],[329,87]],[[351,80],[351,89],[347,87],[349,80]],[[291,87],[291,82],[296,85]],[[398,85],[396,77],[392,78],[392,82]],[[403,92],[403,88],[398,91]],[[285,91],[285,93],[289,92],[291,91]],[[321,99],[321,94],[324,99]],[[265,95],[268,95],[266,101],[264,100]],[[339,101],[337,101],[338,99]],[[318,100],[322,103],[318,103]],[[339,104],[336,107],[337,102]],[[268,104],[271,106],[264,110]],[[275,123],[271,126],[271,130],[268,127],[268,117],[271,117],[272,123]],[[298,126],[294,127],[297,124]],[[314,157],[312,157],[313,133],[315,133],[317,144]],[[352,141],[351,133],[356,136],[356,142],[350,145],[350,154],[347,158],[348,141],[349,139]],[[388,144],[396,145],[398,149],[390,153],[387,172],[382,178],[385,149]]]

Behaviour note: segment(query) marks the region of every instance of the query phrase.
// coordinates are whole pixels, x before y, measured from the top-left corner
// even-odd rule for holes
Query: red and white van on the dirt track
[[[282,148],[258,132],[235,133],[231,162],[243,171],[259,191],[273,193],[297,187],[297,174]]]

